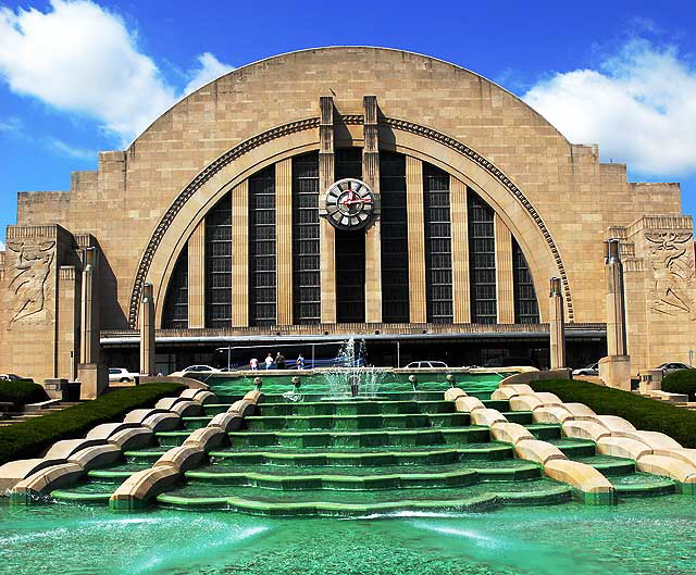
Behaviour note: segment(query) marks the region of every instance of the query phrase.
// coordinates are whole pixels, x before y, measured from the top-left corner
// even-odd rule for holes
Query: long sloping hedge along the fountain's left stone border
[[[163,397],[177,396],[185,387],[159,383],[116,389],[94,401],[0,427],[0,465],[40,457],[55,441],[83,437],[96,425],[119,421],[130,410],[152,407]]]

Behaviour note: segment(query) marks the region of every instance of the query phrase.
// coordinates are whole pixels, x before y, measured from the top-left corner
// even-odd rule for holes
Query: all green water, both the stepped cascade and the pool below
[[[234,396],[244,391],[237,384],[223,386]],[[471,385],[483,399],[490,392],[485,387],[495,388],[492,382]],[[186,483],[160,496],[161,507],[146,513],[114,514],[104,507],[62,502],[9,507],[0,500],[0,575],[696,573],[696,498],[664,495],[673,491],[673,482],[635,473],[630,460],[598,455],[592,441],[561,438],[559,426],[531,424],[524,414],[517,414],[530,430],[558,445],[569,458],[612,467],[611,480],[626,496],[618,505],[576,503],[567,485],[543,477],[530,462],[513,459],[510,446],[490,441],[487,432],[486,437],[477,437],[475,426],[457,427],[464,422],[448,415],[452,405],[442,399],[446,388],[442,383],[434,382],[433,389],[418,395],[395,390],[398,386],[388,386],[381,393],[382,401],[362,402],[360,408],[340,402],[324,403],[325,408],[318,402],[286,408],[279,396],[266,397],[268,403],[259,405],[260,414],[251,422],[282,422],[282,429],[233,433],[232,446],[214,451],[210,462],[189,472]],[[505,402],[500,408],[506,411]],[[405,416],[388,415],[395,412]],[[325,417],[328,413],[338,417]],[[359,413],[376,413],[382,420],[358,433],[334,429],[336,422],[349,421],[345,417],[349,414],[356,422],[370,421]],[[423,413],[432,415],[426,421]],[[308,418],[312,416],[322,417]],[[318,429],[298,429],[308,421],[325,421],[331,433],[323,424]],[[412,430],[372,430],[375,423],[383,428],[390,421],[412,421],[418,426]],[[467,429],[475,432],[469,437],[472,442],[462,434]],[[343,439],[384,434],[391,434],[394,441],[352,445]],[[462,435],[462,442],[448,446],[439,435]],[[167,437],[160,434],[158,439],[162,442]],[[296,437],[306,445],[240,441],[236,446],[241,437]],[[328,437],[341,440],[328,441]],[[422,441],[417,441],[418,437]],[[158,449],[162,448],[152,446],[140,452]],[[144,466],[147,464],[121,462],[111,470]],[[446,477],[448,473],[456,477]],[[398,484],[390,476],[398,476]],[[504,476],[506,480],[500,480]],[[361,485],[353,477],[370,483]],[[94,495],[91,499],[104,503],[99,493],[113,491],[121,480],[100,480],[94,474],[67,491]],[[485,511],[456,511],[467,509],[467,502],[476,498],[488,498],[486,505],[476,508]],[[352,505],[352,513],[363,516],[253,514],[281,510],[291,515],[293,505],[311,509],[318,502],[323,514],[336,514],[332,505],[343,510]],[[548,504],[538,507],[539,502]],[[200,511],[198,504],[209,509]],[[187,511],[166,509],[171,505],[186,507]],[[389,505],[438,511],[364,516]]]

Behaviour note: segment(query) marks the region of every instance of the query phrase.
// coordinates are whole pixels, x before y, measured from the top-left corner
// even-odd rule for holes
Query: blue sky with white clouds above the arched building
[[[234,67],[337,45],[472,70],[630,180],[681,182],[696,214],[693,0],[0,0],[0,249],[17,191],[70,189],[99,150]]]

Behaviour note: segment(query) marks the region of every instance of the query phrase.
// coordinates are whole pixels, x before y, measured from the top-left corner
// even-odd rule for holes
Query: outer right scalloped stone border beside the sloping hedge
[[[680,491],[696,495],[696,449],[668,435],[638,430],[623,417],[597,415],[583,403],[563,403],[529,385],[501,385],[492,398],[508,400],[512,411],[531,411],[536,423],[560,424],[564,436],[594,441],[599,453],[634,460],[638,471],[670,477]]]

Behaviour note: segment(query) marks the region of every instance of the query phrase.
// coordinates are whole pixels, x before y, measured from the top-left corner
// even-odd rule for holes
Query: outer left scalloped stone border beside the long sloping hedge
[[[115,463],[124,451],[147,447],[154,433],[178,427],[177,411],[200,411],[214,399],[204,389],[186,389],[177,398],[160,400],[163,408],[133,410],[120,423],[96,426],[83,439],[57,441],[44,458],[18,460],[0,466],[0,489],[10,490],[13,503],[40,501],[51,491],[70,487],[94,468]]]

